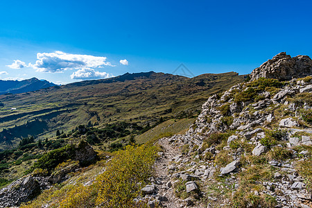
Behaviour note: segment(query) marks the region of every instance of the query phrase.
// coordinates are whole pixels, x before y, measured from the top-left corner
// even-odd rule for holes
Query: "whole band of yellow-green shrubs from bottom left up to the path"
[[[67,184],[62,188],[46,190],[36,200],[22,207],[146,207],[135,204],[148,178],[153,175],[153,164],[157,158],[155,146],[127,146],[117,151],[89,186]],[[60,165],[62,166],[62,165]]]

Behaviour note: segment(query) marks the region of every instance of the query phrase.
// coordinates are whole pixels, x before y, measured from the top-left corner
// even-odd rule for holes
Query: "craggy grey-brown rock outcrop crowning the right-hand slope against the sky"
[[[297,55],[291,58],[281,52],[271,60],[263,63],[251,73],[251,80],[258,78],[275,78],[278,80],[291,80],[312,74],[312,60],[307,55]]]

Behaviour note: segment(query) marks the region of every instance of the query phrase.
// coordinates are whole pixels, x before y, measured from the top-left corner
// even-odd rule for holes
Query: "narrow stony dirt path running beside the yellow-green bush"
[[[179,203],[179,199],[175,197],[173,187],[168,188],[166,184],[170,181],[168,177],[168,164],[172,161],[173,157],[180,155],[180,146],[179,144],[171,144],[168,141],[168,138],[159,139],[158,144],[163,148],[163,155],[157,159],[155,163],[155,171],[157,178],[162,182],[162,188],[159,188],[159,195],[166,196],[167,201],[162,202],[164,207],[184,207]]]

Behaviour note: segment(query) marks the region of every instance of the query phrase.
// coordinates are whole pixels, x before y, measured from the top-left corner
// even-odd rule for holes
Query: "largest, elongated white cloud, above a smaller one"
[[[106,57],[79,55],[55,51],[54,53],[37,53],[37,61],[31,67],[41,72],[62,72],[67,69],[114,67]]]

